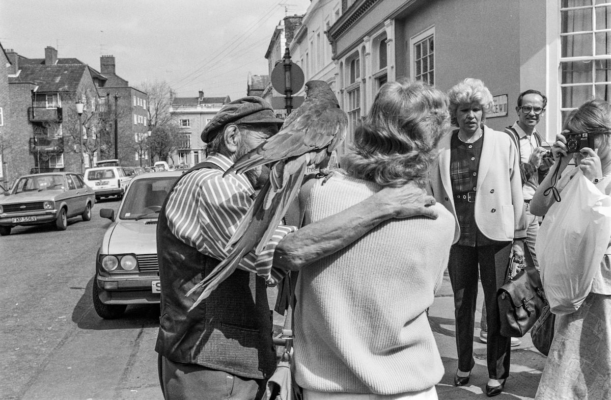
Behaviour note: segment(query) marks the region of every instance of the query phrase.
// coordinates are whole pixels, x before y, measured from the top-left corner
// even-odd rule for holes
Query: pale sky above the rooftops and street
[[[267,75],[265,53],[285,15],[310,0],[0,0],[0,43],[27,58],[78,58],[138,87],[166,81],[178,97],[246,95],[248,74]]]

